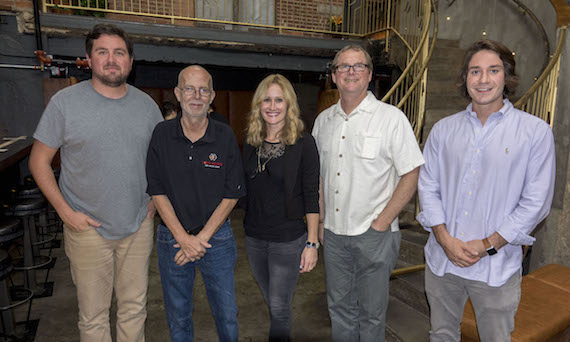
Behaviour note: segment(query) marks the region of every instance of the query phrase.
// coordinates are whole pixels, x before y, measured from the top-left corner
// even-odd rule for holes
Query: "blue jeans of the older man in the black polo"
[[[224,223],[208,242],[212,247],[207,249],[202,259],[178,266],[174,262],[174,256],[179,250],[174,248],[176,240],[168,228],[158,226],[158,267],[166,319],[173,342],[194,340],[192,310],[196,267],[200,269],[204,279],[219,340],[233,342],[238,339],[234,283],[237,248],[229,222]]]

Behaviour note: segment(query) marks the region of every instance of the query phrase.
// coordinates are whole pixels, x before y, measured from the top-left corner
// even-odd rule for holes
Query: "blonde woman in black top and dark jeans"
[[[299,273],[318,259],[319,156],[303,128],[291,83],[266,77],[252,100],[243,163],[246,249],[269,306],[270,341],[289,340]]]

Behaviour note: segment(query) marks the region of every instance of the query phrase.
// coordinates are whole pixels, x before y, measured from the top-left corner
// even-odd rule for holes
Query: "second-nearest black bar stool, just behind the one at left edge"
[[[36,280],[36,270],[44,268],[52,262],[51,256],[39,254],[39,245],[51,240],[37,241],[36,215],[45,213],[47,201],[41,198],[18,200],[4,215],[18,217],[24,227],[24,256],[14,260],[14,270],[24,272],[24,287],[33,291],[34,297],[49,297],[53,291],[53,283],[48,283],[49,268],[43,284]],[[53,239],[53,237],[52,237]]]

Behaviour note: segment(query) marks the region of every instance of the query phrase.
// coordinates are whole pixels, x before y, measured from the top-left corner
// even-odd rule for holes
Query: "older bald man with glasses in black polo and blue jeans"
[[[193,341],[192,292],[200,269],[220,341],[237,341],[235,240],[228,215],[245,195],[230,126],[208,119],[212,77],[193,65],[174,89],[181,117],[156,126],[147,157],[147,192],[164,221],[157,250],[171,341]]]

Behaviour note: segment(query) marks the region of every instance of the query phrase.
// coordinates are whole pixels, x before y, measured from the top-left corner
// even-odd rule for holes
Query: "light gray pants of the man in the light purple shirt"
[[[492,258],[492,257],[491,257]],[[461,319],[467,298],[471,298],[481,341],[511,340],[515,314],[521,298],[521,274],[515,273],[505,284],[491,287],[446,273],[438,277],[429,267],[425,271],[426,295],[430,305],[430,341],[461,340]]]

